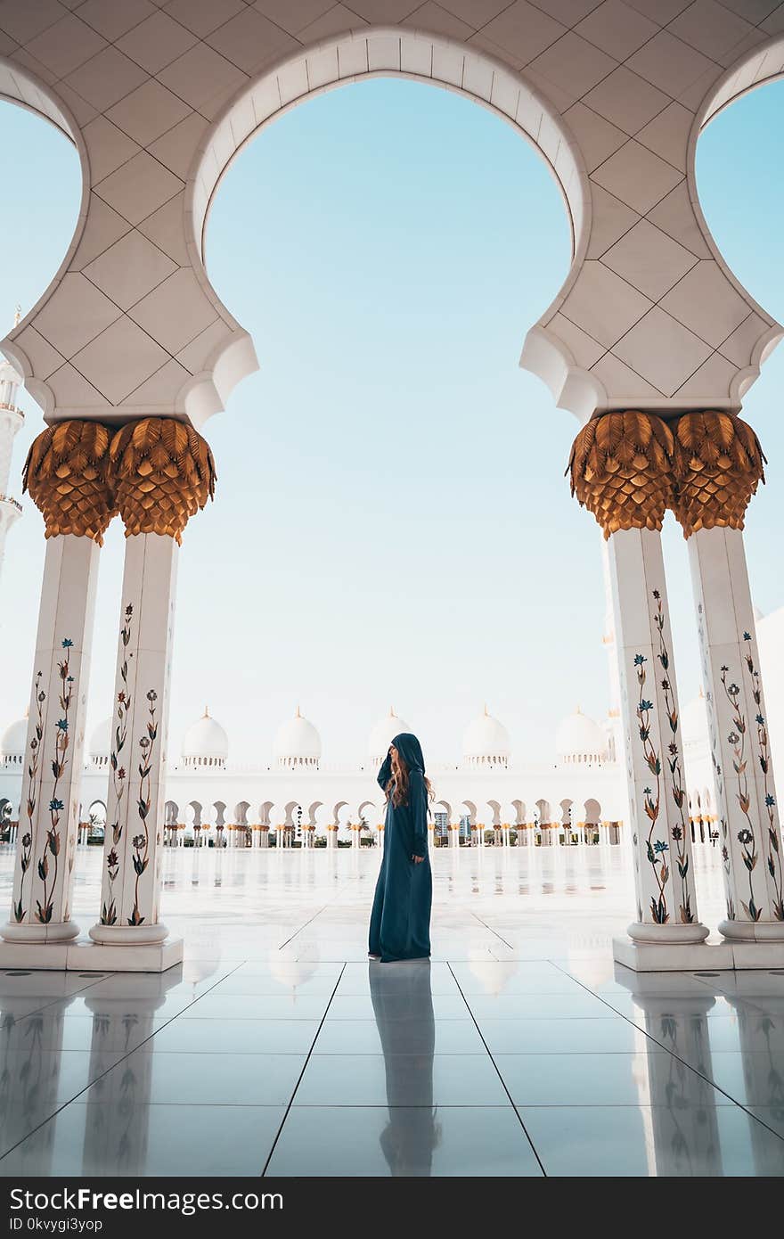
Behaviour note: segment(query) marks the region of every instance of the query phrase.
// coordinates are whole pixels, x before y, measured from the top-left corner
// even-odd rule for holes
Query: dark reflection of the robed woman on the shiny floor
[[[386,1072],[389,1123],[379,1142],[393,1177],[432,1173],[441,1139],[432,1098],[436,1025],[430,960],[368,965]]]

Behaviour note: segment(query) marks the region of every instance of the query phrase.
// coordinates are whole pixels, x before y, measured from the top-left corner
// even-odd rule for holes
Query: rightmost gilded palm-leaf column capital
[[[752,427],[731,413],[685,413],[675,424],[673,510],[686,538],[697,529],[742,529],[764,482],[765,456]]]

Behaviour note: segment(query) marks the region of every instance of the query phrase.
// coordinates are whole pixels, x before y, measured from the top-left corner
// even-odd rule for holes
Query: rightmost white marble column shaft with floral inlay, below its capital
[[[700,529],[687,546],[727,897],[718,928],[733,942],[780,942],[784,850],[743,533]]]

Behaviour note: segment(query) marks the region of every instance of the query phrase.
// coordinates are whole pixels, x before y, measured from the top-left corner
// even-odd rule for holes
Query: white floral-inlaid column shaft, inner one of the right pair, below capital
[[[694,887],[680,711],[661,539],[623,529],[608,539],[616,648],[625,729],[637,921],[614,943],[632,968],[691,966],[684,948],[708,930]],[[654,959],[648,948],[656,948]],[[669,950],[669,953],[668,953]]]

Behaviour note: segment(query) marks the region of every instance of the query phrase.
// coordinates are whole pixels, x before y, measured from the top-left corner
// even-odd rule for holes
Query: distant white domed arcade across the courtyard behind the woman
[[[26,720],[11,724],[1,740],[0,800],[16,821],[22,790]],[[185,733],[181,757],[168,766],[165,790],[167,841],[223,838],[250,839],[264,846],[269,831],[290,843],[327,836],[357,838],[360,826],[372,834],[384,821],[384,795],[377,783],[379,763],[393,736],[409,730],[394,711],[370,730],[367,757],[329,764],[321,760],[317,729],[297,709],[277,731],[272,760],[254,766],[232,763],[229,740],[206,711]],[[487,830],[500,840],[526,828],[534,836],[572,829],[591,841],[603,830],[617,841],[625,818],[622,771],[607,758],[602,727],[580,712],[559,727],[559,751],[551,762],[515,763],[507,729],[487,710],[466,729],[463,756],[455,763],[429,766],[435,790],[431,824],[451,828],[479,841]],[[81,821],[103,820],[110,778],[111,729],[107,720],[94,729],[84,762]],[[378,750],[381,748],[381,752]],[[177,828],[176,834],[173,828]],[[233,828],[239,828],[234,830]],[[462,826],[462,831],[461,831]],[[586,828],[583,830],[583,828]],[[84,828],[82,830],[84,836]],[[358,839],[357,839],[358,841]]]

